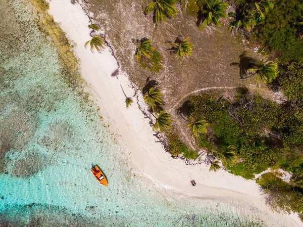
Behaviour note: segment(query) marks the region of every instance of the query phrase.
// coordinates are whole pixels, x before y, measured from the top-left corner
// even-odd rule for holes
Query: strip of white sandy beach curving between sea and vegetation
[[[61,23],[67,37],[77,43],[75,54],[80,59],[81,74],[93,93],[93,99],[100,106],[105,122],[110,125],[116,142],[123,147],[121,152],[129,157],[130,165],[153,181],[158,191],[175,196],[239,200],[259,209],[262,219],[274,216],[275,219],[285,220],[285,226],[303,226],[295,214],[272,212],[255,181],[224,170],[210,172],[205,164],[185,165],[183,160],[172,159],[161,143],[157,143],[149,119],[144,118],[135,98],[132,106],[126,109],[120,84],[129,97],[135,94],[135,90],[131,88],[127,75],[119,74],[118,79],[111,76],[117,69],[117,62],[110,51],[106,48],[99,54],[84,48],[90,36],[89,21],[82,8],[78,4],[72,5],[70,0],[52,0],[49,4],[49,14]],[[141,93],[139,102],[144,106]],[[195,187],[191,186],[191,179],[195,179]]]

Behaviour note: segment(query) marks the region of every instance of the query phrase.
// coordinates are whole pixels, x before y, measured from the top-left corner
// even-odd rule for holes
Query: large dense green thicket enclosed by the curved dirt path
[[[252,176],[268,167],[294,171],[302,163],[303,121],[288,104],[278,105],[240,87],[234,102],[203,94],[191,97],[189,108],[191,116],[203,116],[209,122],[213,133],[207,135],[213,143],[207,143],[205,137],[196,138],[196,143],[223,153],[232,148],[245,166],[238,174]],[[232,163],[223,153],[218,158],[230,167]]]

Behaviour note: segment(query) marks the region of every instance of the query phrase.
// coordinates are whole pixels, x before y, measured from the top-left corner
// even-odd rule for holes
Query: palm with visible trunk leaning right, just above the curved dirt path
[[[264,83],[270,83],[278,75],[277,70],[278,65],[273,62],[260,61],[255,67],[247,69],[247,72],[255,72],[254,74],[241,78],[247,79],[255,74],[257,74],[257,84],[259,86],[259,80],[261,79]]]

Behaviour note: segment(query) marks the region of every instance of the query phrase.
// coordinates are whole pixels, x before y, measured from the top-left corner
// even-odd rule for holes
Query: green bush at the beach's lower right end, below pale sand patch
[[[286,183],[274,173],[262,174],[261,178],[257,179],[257,183],[267,195],[266,202],[277,211],[288,213],[303,211],[302,191]]]

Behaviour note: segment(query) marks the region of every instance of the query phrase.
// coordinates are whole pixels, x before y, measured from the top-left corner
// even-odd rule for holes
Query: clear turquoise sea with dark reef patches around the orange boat
[[[136,176],[31,4],[0,3],[0,226],[264,226],[243,204],[168,197]]]

